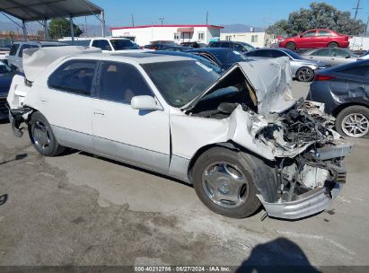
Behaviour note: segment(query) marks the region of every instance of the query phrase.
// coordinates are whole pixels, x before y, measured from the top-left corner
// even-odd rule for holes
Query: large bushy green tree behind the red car
[[[365,31],[365,23],[351,18],[350,12],[341,12],[334,6],[313,2],[309,9],[290,13],[288,20],[280,20],[269,26],[269,34],[297,35],[310,29],[329,29],[348,35],[358,35]]]

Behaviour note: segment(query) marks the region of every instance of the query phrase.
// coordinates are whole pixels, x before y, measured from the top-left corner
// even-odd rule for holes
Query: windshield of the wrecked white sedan
[[[165,101],[174,107],[181,107],[192,101],[219,77],[214,69],[195,60],[142,66]]]

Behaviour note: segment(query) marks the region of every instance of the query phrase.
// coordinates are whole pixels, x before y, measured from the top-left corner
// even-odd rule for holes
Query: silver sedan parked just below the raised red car
[[[317,48],[304,52],[304,58],[321,61],[329,66],[339,66],[355,62],[357,56],[347,48]]]

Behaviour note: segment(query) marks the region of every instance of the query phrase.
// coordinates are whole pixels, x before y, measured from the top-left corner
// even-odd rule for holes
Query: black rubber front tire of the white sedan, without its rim
[[[242,157],[241,157],[242,156]],[[244,187],[244,201],[238,207],[224,207],[215,203],[215,201],[206,193],[206,181],[203,181],[206,168],[209,165],[216,163],[230,163],[234,164],[240,172],[242,172],[246,186]],[[252,215],[260,207],[259,198],[256,196],[258,190],[256,189],[254,178],[255,164],[252,157],[248,154],[241,155],[241,153],[223,147],[214,147],[207,150],[204,154],[198,157],[192,169],[193,185],[198,194],[198,198],[204,203],[206,207],[217,214],[228,216],[232,218],[243,218]],[[233,169],[234,171],[234,169]],[[223,183],[223,182],[222,182]],[[219,187],[216,188],[219,190]],[[243,188],[242,188],[243,189]],[[242,190],[240,192],[243,192]]]

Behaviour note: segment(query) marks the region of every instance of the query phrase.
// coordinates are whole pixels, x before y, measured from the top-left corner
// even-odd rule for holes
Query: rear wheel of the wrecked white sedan
[[[42,131],[42,133],[40,133]],[[40,112],[34,112],[29,123],[29,134],[35,149],[44,156],[55,156],[65,151],[65,147],[57,143],[48,119]],[[42,136],[41,136],[42,135]]]

